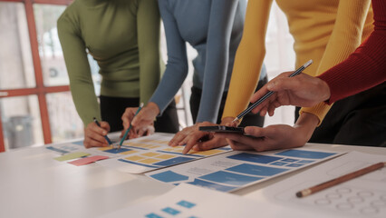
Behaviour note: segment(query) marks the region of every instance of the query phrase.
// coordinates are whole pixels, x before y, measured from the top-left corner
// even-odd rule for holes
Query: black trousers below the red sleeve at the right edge
[[[335,102],[309,142],[385,147],[386,83]]]

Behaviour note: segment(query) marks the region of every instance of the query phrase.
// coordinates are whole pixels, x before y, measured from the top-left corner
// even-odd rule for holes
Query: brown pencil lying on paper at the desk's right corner
[[[385,165],[386,165],[386,162],[380,162],[380,163],[372,164],[372,165],[370,165],[368,167],[362,168],[361,170],[358,170],[358,171],[355,171],[355,172],[352,172],[352,173],[347,173],[347,174],[344,174],[344,175],[342,175],[340,177],[332,179],[330,181],[317,184],[317,185],[315,185],[315,186],[313,186],[311,188],[304,189],[303,191],[297,192],[296,196],[301,198],[301,197],[305,197],[305,196],[308,196],[308,195],[313,194],[313,193],[317,193],[319,191],[322,191],[323,189],[330,188],[333,185],[344,183],[346,181],[349,181],[349,180],[352,180],[352,179],[354,179],[356,177],[359,177],[359,176],[361,176],[363,174],[371,173],[373,171],[381,169]]]

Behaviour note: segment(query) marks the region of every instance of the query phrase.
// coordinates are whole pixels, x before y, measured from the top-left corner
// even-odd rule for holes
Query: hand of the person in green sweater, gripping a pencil
[[[86,128],[84,128],[84,147],[91,148],[109,146],[109,143],[104,138],[104,135],[109,133],[110,124],[104,121],[101,121],[100,124],[101,127],[92,122],[87,124]]]

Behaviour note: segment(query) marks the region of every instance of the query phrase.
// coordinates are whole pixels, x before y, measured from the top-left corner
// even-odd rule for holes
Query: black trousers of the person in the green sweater
[[[101,100],[101,119],[110,124],[111,132],[123,129],[121,116],[126,107],[138,107],[140,98],[123,98],[100,96]],[[179,132],[179,117],[177,115],[176,102],[173,101],[166,108],[165,112],[157,117],[154,122],[156,132],[175,134]]]

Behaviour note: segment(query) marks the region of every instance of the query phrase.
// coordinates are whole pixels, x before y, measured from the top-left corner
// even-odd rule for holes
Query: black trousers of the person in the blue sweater
[[[265,85],[268,82],[268,78],[265,76],[264,79],[260,80],[257,84],[256,91],[259,90],[263,85]],[[201,101],[201,94],[202,90],[197,87],[191,88],[192,94],[190,95],[190,111],[192,113],[193,121],[196,123],[197,115],[198,115],[198,108],[199,103]],[[221,98],[221,104],[220,108],[218,110],[217,115],[217,124],[221,123],[221,117],[224,112],[224,107],[227,101],[227,92],[224,92],[222,98]],[[248,113],[244,116],[243,121],[239,126],[249,126],[249,125],[255,125],[255,126],[263,126],[264,125],[264,116],[260,116],[259,114],[252,114]]]

